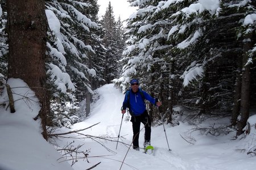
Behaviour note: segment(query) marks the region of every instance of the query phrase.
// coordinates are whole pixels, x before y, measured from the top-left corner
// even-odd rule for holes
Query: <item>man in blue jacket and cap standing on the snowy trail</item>
[[[131,89],[125,94],[123,100],[122,114],[126,113],[126,108],[129,108],[131,114],[131,122],[133,123],[133,148],[139,150],[139,131],[141,130],[141,123],[144,124],[144,148],[150,145],[151,136],[151,120],[146,110],[146,104],[144,99],[150,101],[150,103],[160,107],[162,103],[157,98],[153,98],[147,94],[147,92],[139,88],[139,81],[132,79]]]

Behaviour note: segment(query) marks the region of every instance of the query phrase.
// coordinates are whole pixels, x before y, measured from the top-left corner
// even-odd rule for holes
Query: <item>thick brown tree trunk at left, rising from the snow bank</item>
[[[7,1],[9,78],[20,78],[35,91],[41,103],[43,137],[47,140],[46,36],[47,20],[43,0]]]

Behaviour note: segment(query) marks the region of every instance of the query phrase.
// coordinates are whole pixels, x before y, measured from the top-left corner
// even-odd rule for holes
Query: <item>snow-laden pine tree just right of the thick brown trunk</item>
[[[86,97],[88,116],[93,89],[104,82],[101,59],[97,59],[104,51],[100,38],[102,28],[96,23],[97,1],[47,1],[46,8],[47,46],[51,56],[47,66],[49,78],[55,85],[53,95],[61,102],[81,101]],[[57,29],[56,23],[59,23]]]

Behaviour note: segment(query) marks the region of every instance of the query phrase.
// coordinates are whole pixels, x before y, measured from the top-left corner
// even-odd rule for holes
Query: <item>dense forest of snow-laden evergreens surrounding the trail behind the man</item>
[[[12,77],[40,86],[43,128],[68,127],[89,116],[98,87],[115,83],[125,93],[136,78],[162,101],[168,124],[179,124],[180,116],[189,122],[230,117],[224,128],[242,134],[256,109],[256,1],[128,1],[138,10],[126,25],[115,19],[110,2],[100,17],[97,0],[40,0],[33,2],[40,17],[33,11],[26,17],[32,10],[26,3],[1,1],[0,93]],[[40,29],[33,17],[40,18]],[[40,71],[30,70],[39,68],[30,57],[33,41],[43,44],[44,61],[34,77],[28,75]],[[83,102],[86,110],[78,112]],[[159,111],[147,108],[158,122]],[[44,130],[47,139],[51,132]]]

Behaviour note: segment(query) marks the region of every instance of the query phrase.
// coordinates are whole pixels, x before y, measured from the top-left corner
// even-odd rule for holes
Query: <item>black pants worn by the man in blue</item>
[[[144,124],[145,128],[144,142],[150,143],[151,120],[147,111],[140,116],[132,116],[131,122],[133,123],[133,147],[139,147],[139,131],[141,130],[141,123]]]

